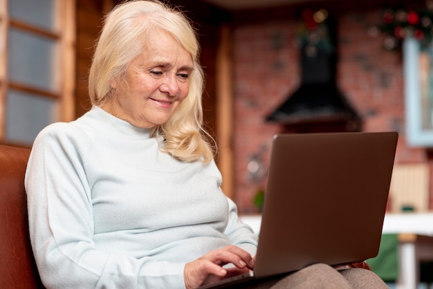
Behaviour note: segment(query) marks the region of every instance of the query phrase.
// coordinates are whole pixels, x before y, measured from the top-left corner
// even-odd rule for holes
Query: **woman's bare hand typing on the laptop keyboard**
[[[183,272],[185,286],[187,289],[198,288],[201,285],[246,273],[254,268],[254,262],[248,252],[234,245],[210,251],[185,265]],[[222,266],[228,263],[233,263],[234,267],[224,269]]]

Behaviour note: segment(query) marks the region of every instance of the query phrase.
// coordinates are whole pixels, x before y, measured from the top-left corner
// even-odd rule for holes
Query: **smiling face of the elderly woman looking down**
[[[129,64],[126,81],[110,82],[113,94],[101,107],[136,127],[164,124],[187,97],[192,68],[190,53],[167,32],[154,30]]]

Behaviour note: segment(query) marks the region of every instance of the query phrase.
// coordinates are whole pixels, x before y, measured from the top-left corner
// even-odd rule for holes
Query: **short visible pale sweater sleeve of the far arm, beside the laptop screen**
[[[231,244],[239,246],[254,256],[257,251],[257,234],[239,219],[237,205],[230,198],[228,198],[228,208],[228,225],[224,233],[229,236]]]

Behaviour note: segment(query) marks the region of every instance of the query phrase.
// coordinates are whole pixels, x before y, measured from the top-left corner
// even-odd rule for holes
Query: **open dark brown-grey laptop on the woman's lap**
[[[254,272],[201,288],[376,257],[397,140],[396,132],[276,135]]]

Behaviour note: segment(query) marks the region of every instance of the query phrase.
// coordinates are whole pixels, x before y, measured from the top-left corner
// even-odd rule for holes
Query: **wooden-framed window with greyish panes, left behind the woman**
[[[74,117],[74,0],[0,0],[0,143]]]

